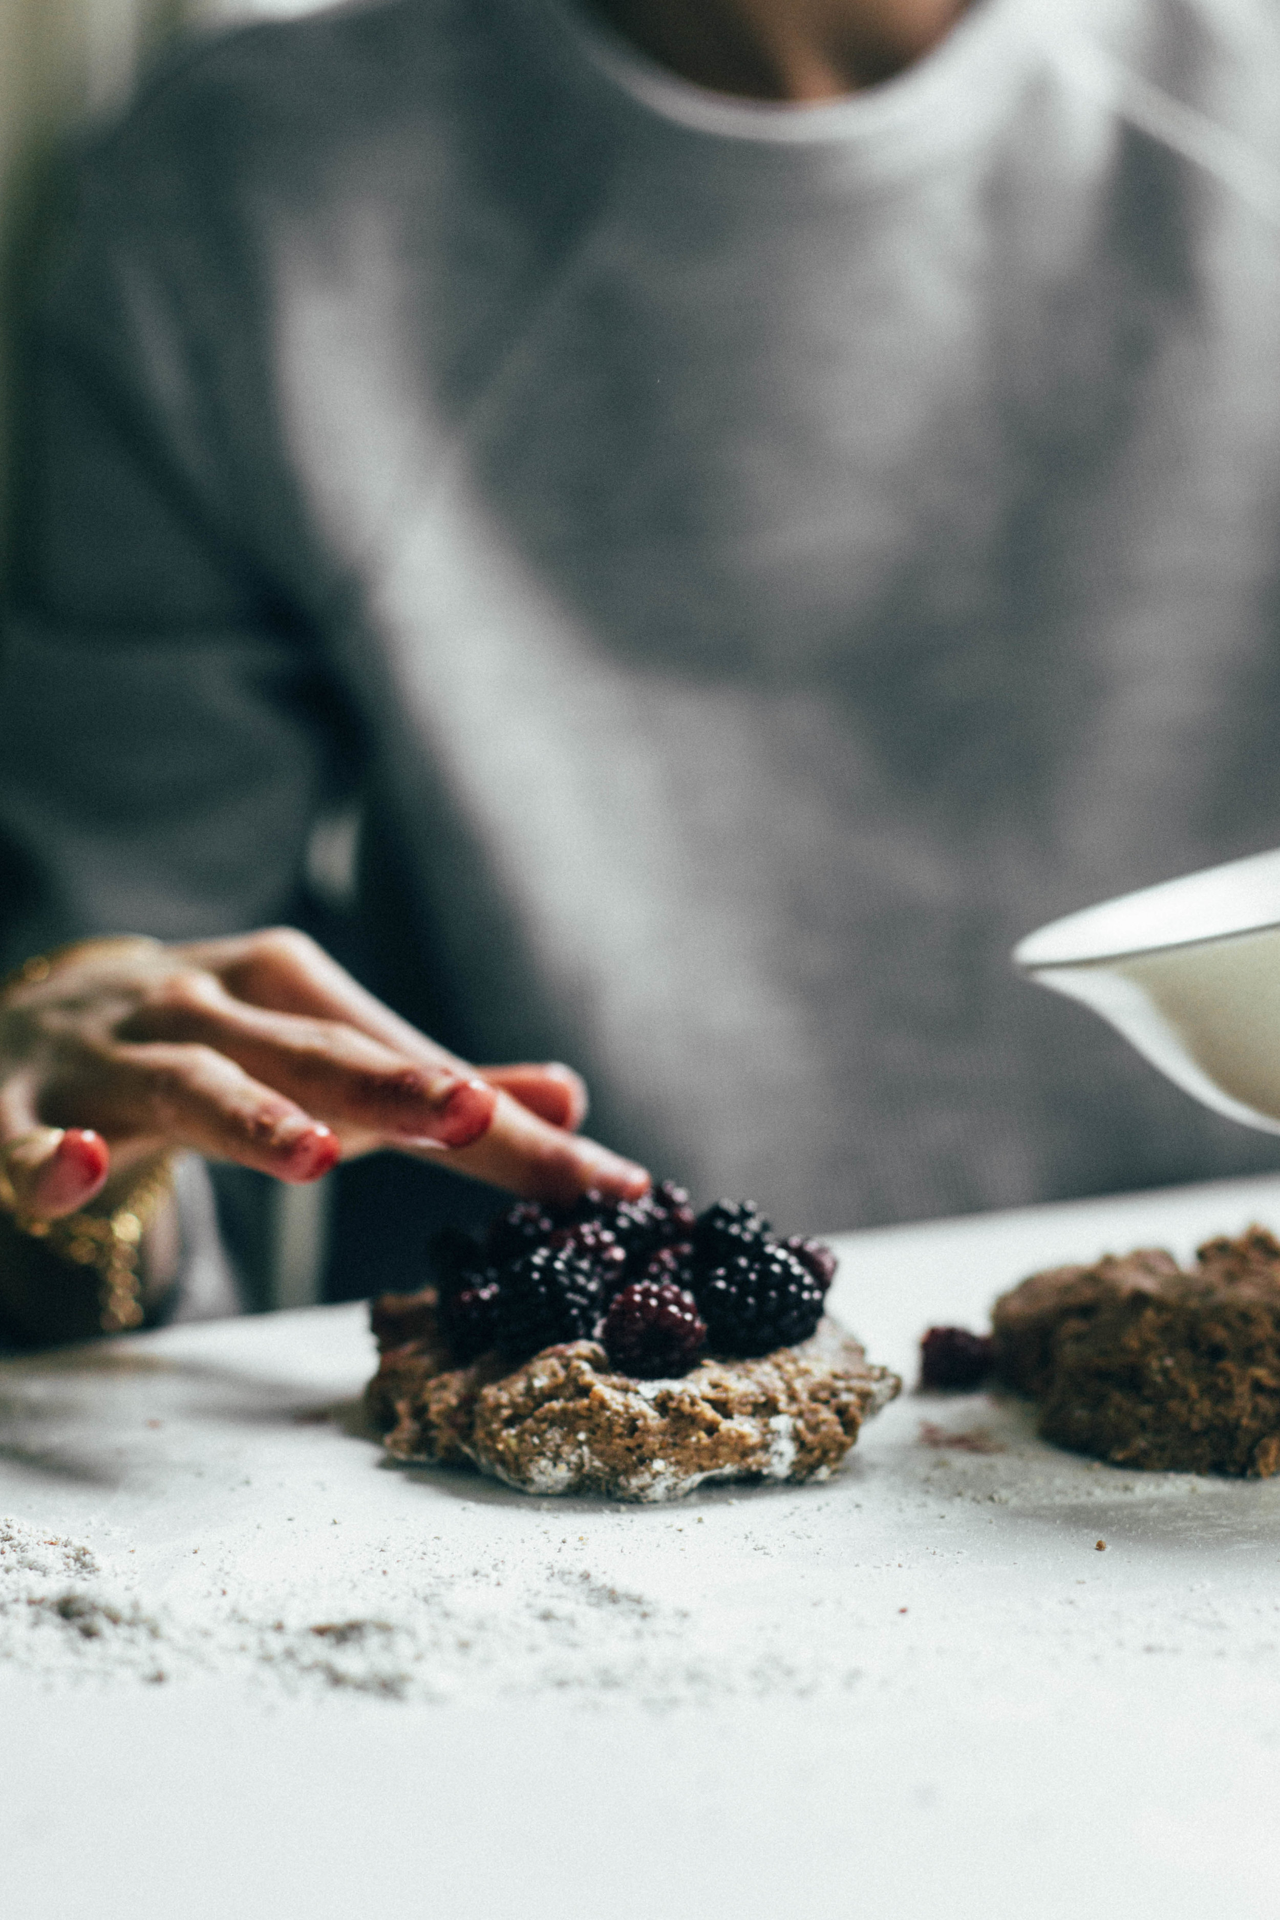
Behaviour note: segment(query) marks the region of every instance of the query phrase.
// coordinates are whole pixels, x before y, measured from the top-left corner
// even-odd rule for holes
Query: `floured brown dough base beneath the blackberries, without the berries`
[[[372,1319],[384,1352],[367,1400],[388,1453],[470,1461],[526,1494],[677,1500],[704,1480],[825,1480],[902,1390],[831,1319],[802,1346],[672,1380],[612,1373],[595,1340],[514,1369],[495,1354],[451,1367],[430,1288],[380,1300]]]

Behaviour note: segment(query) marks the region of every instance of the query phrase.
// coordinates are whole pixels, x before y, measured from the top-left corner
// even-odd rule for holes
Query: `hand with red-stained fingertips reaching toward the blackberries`
[[[510,1192],[637,1196],[560,1066],[474,1069],[290,927],[86,941],[0,995],[0,1196],[58,1219],[169,1148],[311,1181],[391,1146]]]

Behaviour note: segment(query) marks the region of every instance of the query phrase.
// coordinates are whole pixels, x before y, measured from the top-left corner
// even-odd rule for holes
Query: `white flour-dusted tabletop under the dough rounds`
[[[1036,1265],[1255,1215],[850,1236],[835,1306],[910,1373]],[[823,1488],[530,1501],[382,1467],[370,1352],[336,1308],[0,1365],[2,1912],[1280,1908],[1280,1482],[908,1394]]]

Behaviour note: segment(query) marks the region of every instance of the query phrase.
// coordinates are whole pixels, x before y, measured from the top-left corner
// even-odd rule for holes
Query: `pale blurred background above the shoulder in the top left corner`
[[[320,0],[0,0],[0,549],[8,524],[13,355],[23,294],[58,219],[58,159],[117,111],[182,31],[307,13]]]

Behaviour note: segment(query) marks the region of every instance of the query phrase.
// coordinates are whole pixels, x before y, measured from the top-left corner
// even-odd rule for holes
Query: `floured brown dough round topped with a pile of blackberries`
[[[434,1284],[372,1306],[395,1459],[616,1500],[823,1480],[902,1388],[823,1313],[831,1250],[747,1202],[524,1202],[432,1256]]]

